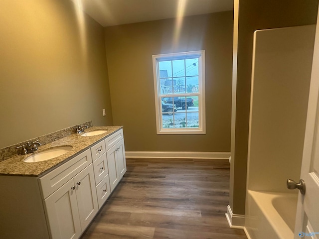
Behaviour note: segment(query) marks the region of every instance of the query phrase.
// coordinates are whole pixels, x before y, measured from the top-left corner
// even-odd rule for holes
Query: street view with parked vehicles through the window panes
[[[198,58],[160,61],[159,68],[162,127],[198,127]]]

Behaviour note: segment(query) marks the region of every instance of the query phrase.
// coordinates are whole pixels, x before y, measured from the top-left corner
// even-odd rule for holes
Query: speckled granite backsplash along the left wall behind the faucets
[[[53,133],[48,133],[48,134],[45,134],[45,135],[42,135],[42,136],[39,136],[39,137],[36,137],[36,138],[31,138],[29,140],[26,140],[26,141],[23,141],[23,142],[19,142],[17,144],[14,144],[14,145],[11,145],[11,146],[8,146],[8,147],[5,147],[5,148],[1,148],[0,149],[0,162],[3,161],[3,160],[6,160],[8,158],[11,158],[11,157],[19,155],[20,154],[20,150],[18,150],[16,148],[17,146],[20,146],[20,145],[23,145],[23,144],[25,145],[27,142],[34,142],[35,140],[39,140],[39,142],[42,145],[51,143],[53,141],[56,141],[56,140],[58,140],[60,138],[64,138],[64,137],[69,136],[72,133],[74,133],[73,127],[75,127],[77,125],[73,125],[73,126],[70,126],[70,127],[67,127],[67,128],[63,128],[63,129],[60,129],[60,130],[55,131]],[[81,125],[87,125],[88,127],[92,127],[93,126],[92,120],[88,121],[88,122],[81,123]]]

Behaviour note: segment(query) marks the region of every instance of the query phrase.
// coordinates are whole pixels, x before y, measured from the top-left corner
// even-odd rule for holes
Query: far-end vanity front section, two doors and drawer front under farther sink
[[[107,148],[106,156],[109,168],[110,186],[111,191],[113,192],[127,169],[123,130],[121,129],[111,136],[105,139],[105,144]]]

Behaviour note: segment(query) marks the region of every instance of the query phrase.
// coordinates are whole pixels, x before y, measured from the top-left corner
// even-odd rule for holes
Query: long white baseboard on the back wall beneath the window
[[[203,158],[229,160],[230,152],[149,152],[125,151],[127,158]]]

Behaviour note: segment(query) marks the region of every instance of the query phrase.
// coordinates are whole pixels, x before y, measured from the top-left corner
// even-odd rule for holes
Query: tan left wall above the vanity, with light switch
[[[84,20],[80,31],[69,0],[0,2],[0,148],[88,120],[112,125],[104,30]]]

